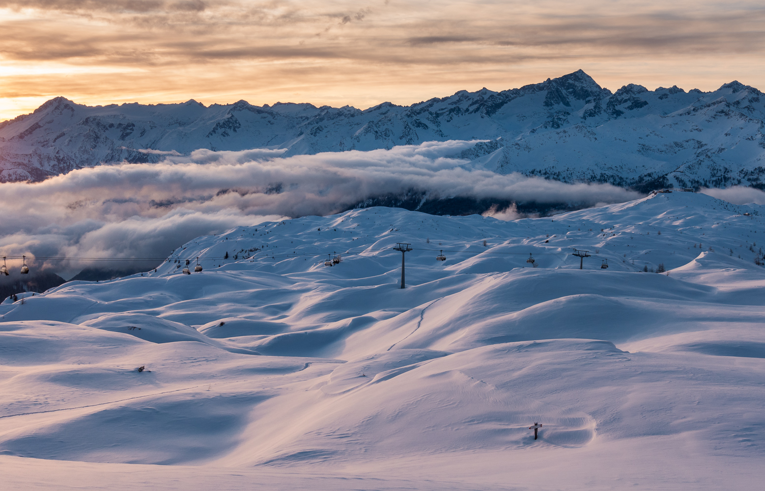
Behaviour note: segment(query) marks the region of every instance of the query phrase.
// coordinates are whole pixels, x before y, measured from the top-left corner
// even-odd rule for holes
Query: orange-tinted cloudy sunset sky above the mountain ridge
[[[765,88],[761,0],[0,0],[0,32],[0,121],[54,96],[409,105],[579,68]]]

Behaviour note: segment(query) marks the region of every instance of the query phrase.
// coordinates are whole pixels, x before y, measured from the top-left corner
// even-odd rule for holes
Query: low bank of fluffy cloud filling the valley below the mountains
[[[164,258],[196,236],[272,219],[327,215],[373,197],[493,198],[594,206],[640,195],[610,184],[500,175],[452,158],[470,141],[281,158],[281,151],[197,150],[159,164],[103,165],[37,184],[0,184],[0,254]],[[512,210],[493,214],[504,219]],[[146,262],[146,267],[157,261]],[[37,262],[38,267],[43,266]],[[86,265],[51,262],[64,277]]]

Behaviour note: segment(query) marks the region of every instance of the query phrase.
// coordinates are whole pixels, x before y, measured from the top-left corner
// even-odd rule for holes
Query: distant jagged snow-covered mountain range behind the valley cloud
[[[763,120],[763,93],[738,82],[707,93],[634,84],[611,93],[581,70],[519,89],[363,111],[245,101],[206,107],[194,100],[90,107],[57,97],[0,123],[0,182],[161,161],[198,148],[294,155],[487,140],[455,157],[564,182],[762,188]]]

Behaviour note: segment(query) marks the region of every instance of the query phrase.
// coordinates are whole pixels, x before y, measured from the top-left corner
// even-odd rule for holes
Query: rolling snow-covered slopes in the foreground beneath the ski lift
[[[760,489],[763,230],[695,193],[369,208],[6,301],[3,489]]]

